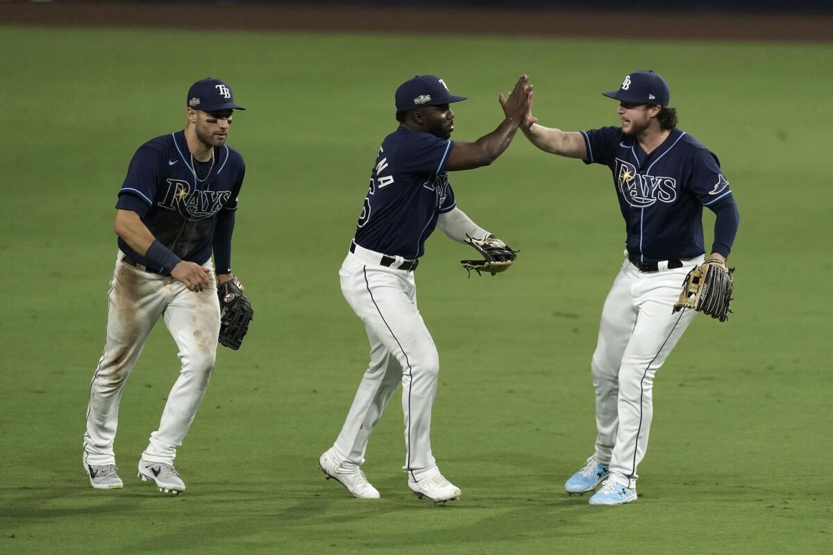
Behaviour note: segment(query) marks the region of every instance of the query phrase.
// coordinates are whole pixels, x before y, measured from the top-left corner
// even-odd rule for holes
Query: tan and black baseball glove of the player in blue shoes
[[[700,310],[721,322],[729,318],[731,291],[734,286],[732,272],[720,260],[706,260],[692,269],[682,283],[680,299],[674,305],[674,312],[682,309]]]

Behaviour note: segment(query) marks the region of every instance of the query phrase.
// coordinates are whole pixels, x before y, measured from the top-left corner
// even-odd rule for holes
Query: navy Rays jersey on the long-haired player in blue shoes
[[[731,198],[717,156],[677,129],[651,154],[621,127],[581,133],[587,150],[584,162],[611,168],[632,259],[689,259],[706,252],[703,206],[714,209]]]

